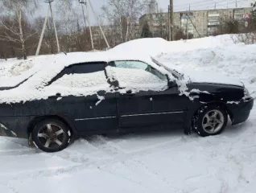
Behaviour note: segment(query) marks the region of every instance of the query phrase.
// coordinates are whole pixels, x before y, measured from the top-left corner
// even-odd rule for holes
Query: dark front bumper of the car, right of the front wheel
[[[240,101],[238,104],[228,105],[231,112],[232,125],[237,125],[248,119],[250,111],[254,107],[254,99],[252,97]]]

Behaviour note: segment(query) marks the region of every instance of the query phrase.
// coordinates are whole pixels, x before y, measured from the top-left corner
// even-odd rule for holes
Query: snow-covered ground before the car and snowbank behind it
[[[237,78],[253,92],[255,50],[255,45],[234,44],[222,35],[174,43],[140,39],[112,51],[147,51],[182,72]],[[3,66],[12,67],[0,62],[0,73],[6,75]],[[228,125],[221,135],[208,138],[186,136],[179,129],[93,136],[46,154],[29,148],[26,140],[0,137],[0,191],[254,193],[255,160],[256,107],[245,123]]]

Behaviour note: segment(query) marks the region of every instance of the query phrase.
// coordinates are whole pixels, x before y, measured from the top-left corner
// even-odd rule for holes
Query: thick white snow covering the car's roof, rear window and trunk
[[[112,51],[95,51],[95,52],[72,52],[67,55],[39,55],[29,57],[28,60],[23,60],[23,65],[32,64],[31,69],[27,72],[23,72],[21,76],[0,77],[0,82],[5,80],[4,87],[14,87],[7,90],[0,91],[0,103],[14,103],[20,101],[33,101],[36,99],[46,99],[47,96],[55,95],[55,90],[43,91],[45,85],[50,82],[57,74],[59,74],[65,67],[72,64],[81,64],[89,62],[109,62],[114,60],[140,60],[147,64],[150,64],[153,68],[157,68],[163,74],[167,74],[170,80],[174,77],[170,72],[167,72],[163,67],[159,67],[152,60],[150,55],[138,55],[138,54],[116,54]],[[29,78],[27,81],[23,82]],[[97,79],[97,77],[95,77]],[[23,84],[20,84],[23,82]],[[17,86],[19,85],[19,86]],[[17,86],[17,87],[16,87]],[[108,92],[109,88],[105,88]],[[84,96],[95,94],[95,90],[92,92],[85,91],[81,93]]]

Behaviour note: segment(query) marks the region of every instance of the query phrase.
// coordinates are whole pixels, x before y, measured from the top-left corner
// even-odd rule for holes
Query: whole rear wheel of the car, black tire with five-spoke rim
[[[35,146],[49,153],[64,150],[71,138],[68,126],[56,119],[39,121],[31,136]]]

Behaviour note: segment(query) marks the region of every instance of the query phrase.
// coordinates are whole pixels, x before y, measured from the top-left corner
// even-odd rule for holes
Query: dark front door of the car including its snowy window
[[[114,61],[106,68],[118,82],[119,126],[125,130],[181,127],[188,99],[167,77],[140,61]],[[159,126],[160,125],[160,126]]]

